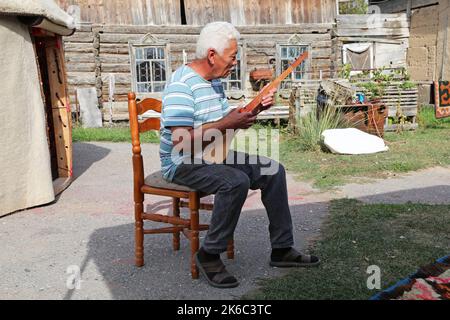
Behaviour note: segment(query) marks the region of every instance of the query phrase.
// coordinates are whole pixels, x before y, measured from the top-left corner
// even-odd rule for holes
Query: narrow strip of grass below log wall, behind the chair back
[[[74,125],[72,129],[72,141],[131,142],[130,128],[123,125],[103,128],[83,128]],[[156,132],[147,131],[141,134],[141,143],[159,143],[159,137]]]

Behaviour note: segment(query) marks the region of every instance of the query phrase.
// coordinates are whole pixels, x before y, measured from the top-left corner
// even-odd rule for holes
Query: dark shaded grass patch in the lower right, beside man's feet
[[[314,253],[318,268],[262,280],[244,299],[368,299],[449,254],[450,206],[334,200]],[[381,290],[367,289],[367,267],[381,269]]]

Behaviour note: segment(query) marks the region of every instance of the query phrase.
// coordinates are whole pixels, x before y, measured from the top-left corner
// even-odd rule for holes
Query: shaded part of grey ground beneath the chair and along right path
[[[359,200],[421,203],[423,199],[434,197],[436,203],[449,203],[449,194],[450,186],[443,185],[361,197]],[[170,201],[165,200],[150,204],[147,209],[159,210],[169,206]],[[291,206],[297,248],[304,250],[312,243],[313,251],[311,240],[320,235],[321,224],[328,214],[327,207],[328,202]],[[201,221],[207,222],[209,215],[202,212]],[[201,235],[202,239],[204,232]],[[133,223],[96,230],[90,237],[88,250],[81,272],[89,262],[93,262],[112,299],[239,299],[258,287],[258,279],[288,272],[268,265],[268,219],[263,209],[241,214],[235,232],[235,260],[224,260],[227,269],[241,282],[234,289],[212,288],[201,276],[199,280],[192,280],[188,241],[182,238],[180,250],[173,251],[172,235],[145,236],[146,264],[142,268],[135,267]],[[73,291],[68,291],[65,299],[71,299],[72,294]]]

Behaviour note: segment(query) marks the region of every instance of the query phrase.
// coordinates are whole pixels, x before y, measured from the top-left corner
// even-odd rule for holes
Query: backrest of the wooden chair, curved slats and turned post
[[[144,184],[144,164],[141,156],[141,141],[139,135],[149,130],[159,130],[159,118],[148,118],[139,121],[138,116],[153,110],[161,113],[162,102],[153,98],[136,101],[134,92],[128,93],[128,114],[130,116],[131,144],[133,145],[133,173],[135,197],[140,197],[140,187]]]

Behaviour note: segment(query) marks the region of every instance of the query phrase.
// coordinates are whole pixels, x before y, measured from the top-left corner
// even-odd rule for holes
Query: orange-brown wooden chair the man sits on
[[[162,103],[157,99],[147,98],[136,101],[134,92],[128,94],[128,112],[130,115],[131,142],[133,150],[133,176],[134,176],[134,216],[135,216],[135,263],[136,266],[144,265],[144,235],[158,233],[172,233],[173,250],[180,249],[180,233],[183,233],[191,244],[191,274],[193,279],[198,278],[198,268],[194,254],[199,249],[199,231],[207,230],[207,224],[199,223],[199,210],[212,210],[212,204],[200,203],[200,198],[206,196],[186,186],[169,183],[162,178],[160,171],[149,176],[144,176],[144,165],[141,155],[141,143],[139,135],[149,130],[160,129],[159,118],[138,120],[138,115],[148,110],[161,113]],[[144,194],[153,194],[172,198],[173,216],[144,212]],[[186,199],[187,201],[183,200]],[[180,208],[189,208],[189,218],[180,217]],[[170,227],[159,229],[144,229],[144,220],[152,220],[170,224]],[[228,242],[227,257],[234,258],[233,240]]]

